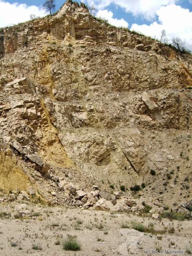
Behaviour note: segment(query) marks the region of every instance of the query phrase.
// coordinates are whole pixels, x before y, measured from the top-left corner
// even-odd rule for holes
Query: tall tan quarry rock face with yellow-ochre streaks
[[[76,185],[81,199],[93,184],[101,191],[124,185],[130,197],[130,187],[144,183],[146,197],[184,201],[191,191],[186,181],[180,195],[192,171],[191,86],[191,55],[67,1],[53,16],[0,32],[0,147],[12,145],[26,177],[61,188],[69,200]],[[38,177],[45,163],[41,174],[49,170],[66,183]],[[83,203],[110,210],[115,198],[101,195]]]

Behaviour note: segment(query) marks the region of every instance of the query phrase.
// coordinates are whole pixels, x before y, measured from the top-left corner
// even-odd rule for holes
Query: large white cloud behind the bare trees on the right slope
[[[132,24],[131,30],[159,38],[160,32],[165,29],[167,37],[180,37],[186,41],[186,47],[192,50],[192,12],[179,5],[170,4],[162,6],[156,11],[159,23],[153,22],[150,25]]]

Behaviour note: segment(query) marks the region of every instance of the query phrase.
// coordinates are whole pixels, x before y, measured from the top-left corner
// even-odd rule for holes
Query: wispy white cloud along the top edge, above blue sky
[[[98,10],[103,10],[113,3],[135,16],[143,15],[146,19],[152,19],[161,6],[175,4],[177,1],[179,0],[87,0],[87,3],[94,4]]]

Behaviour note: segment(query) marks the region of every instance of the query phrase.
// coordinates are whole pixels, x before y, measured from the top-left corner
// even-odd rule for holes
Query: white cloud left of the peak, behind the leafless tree
[[[45,10],[35,5],[27,6],[17,2],[10,4],[9,2],[0,0],[0,27],[5,27],[19,22],[29,20],[30,14],[36,16],[44,16]]]

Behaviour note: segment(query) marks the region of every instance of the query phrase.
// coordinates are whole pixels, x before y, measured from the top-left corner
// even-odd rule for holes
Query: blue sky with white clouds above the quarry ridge
[[[16,3],[17,2],[17,3]],[[64,1],[55,0],[56,10]],[[80,3],[79,0],[77,2]],[[95,15],[116,26],[129,27],[159,38],[163,29],[167,39],[180,37],[192,50],[192,0],[85,0],[94,4]],[[45,15],[41,0],[0,0],[0,27],[29,19],[30,14]]]

